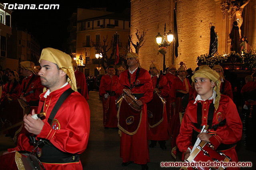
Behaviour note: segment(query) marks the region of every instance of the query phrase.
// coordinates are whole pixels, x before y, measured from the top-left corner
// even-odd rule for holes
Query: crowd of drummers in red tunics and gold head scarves
[[[174,158],[180,151],[182,160],[187,160],[199,139],[238,162],[235,147],[243,126],[237,108],[242,102],[245,144],[256,151],[251,140],[255,139],[256,73],[246,76],[242,86],[228,81],[220,65],[203,65],[193,71],[181,63],[178,69],[170,65],[163,74],[154,62],[148,70],[141,68],[136,53],[130,52],[126,58],[128,68],[108,66],[99,85],[103,126],[119,129],[122,166],[134,163],[148,169],[148,147],[157,143],[162,150],[170,147]],[[32,108],[29,114],[16,113],[12,124],[22,119],[24,124],[15,133],[6,131],[16,137],[17,147],[4,155],[33,150],[46,169],[82,169],[79,154],[86,149],[90,133],[88,94],[95,89],[96,78],[86,77],[69,55],[56,49],[43,49],[39,63],[38,71],[33,62],[20,63],[21,83],[14,70],[6,69],[1,76],[6,81],[0,98],[2,121],[10,119],[4,112],[20,100]],[[242,102],[237,102],[238,94]],[[32,117],[41,112],[40,119]],[[209,125],[206,132],[202,132],[204,125]],[[166,146],[169,139],[171,146]],[[3,157],[0,164],[6,160]]]

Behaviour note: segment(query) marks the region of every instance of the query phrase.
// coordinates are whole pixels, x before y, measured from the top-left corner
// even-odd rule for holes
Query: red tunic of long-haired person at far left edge
[[[10,84],[10,86],[8,87],[8,84]],[[22,88],[20,86],[20,84],[18,83],[16,85],[16,87],[14,87],[14,89],[12,90],[13,88],[13,83],[12,82],[9,82],[9,83],[6,83],[4,85],[4,89],[2,91],[2,96],[0,98],[0,103],[4,100],[5,96],[7,96],[7,94],[9,94],[10,98],[12,98],[12,100],[16,100],[17,98],[20,97],[20,94],[21,94],[21,91],[22,91]],[[12,94],[10,94],[12,90]]]

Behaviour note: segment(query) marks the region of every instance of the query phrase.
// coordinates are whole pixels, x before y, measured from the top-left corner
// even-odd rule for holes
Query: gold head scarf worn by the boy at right
[[[192,81],[194,83],[195,83],[196,77],[208,78],[216,84],[214,86],[214,90],[216,91],[217,95],[216,95],[216,99],[214,102],[214,107],[217,110],[219,107],[219,103],[220,103],[220,83],[221,83],[219,80],[220,75],[218,74],[218,72],[216,72],[210,68],[202,68],[202,69],[197,70],[194,73],[194,75],[192,76]]]

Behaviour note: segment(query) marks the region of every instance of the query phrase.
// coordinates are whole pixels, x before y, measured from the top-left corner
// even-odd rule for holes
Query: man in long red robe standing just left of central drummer
[[[115,74],[113,66],[107,68],[108,74],[102,76],[100,80],[100,96],[103,105],[103,125],[105,129],[117,127],[117,107],[116,107],[116,85],[118,76]]]

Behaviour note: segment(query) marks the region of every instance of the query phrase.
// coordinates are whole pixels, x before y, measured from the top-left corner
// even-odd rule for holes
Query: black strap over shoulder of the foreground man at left
[[[60,96],[60,98],[58,99],[58,101],[56,102],[55,106],[52,109],[52,112],[48,118],[48,123],[52,126],[52,120],[54,119],[58,109],[60,108],[60,106],[63,104],[63,102],[66,100],[66,98],[68,98],[68,96],[73,93],[74,90],[72,90],[71,88],[69,88],[68,90],[66,90],[65,92],[62,93],[62,95]],[[41,112],[44,111],[44,106],[41,109]]]

